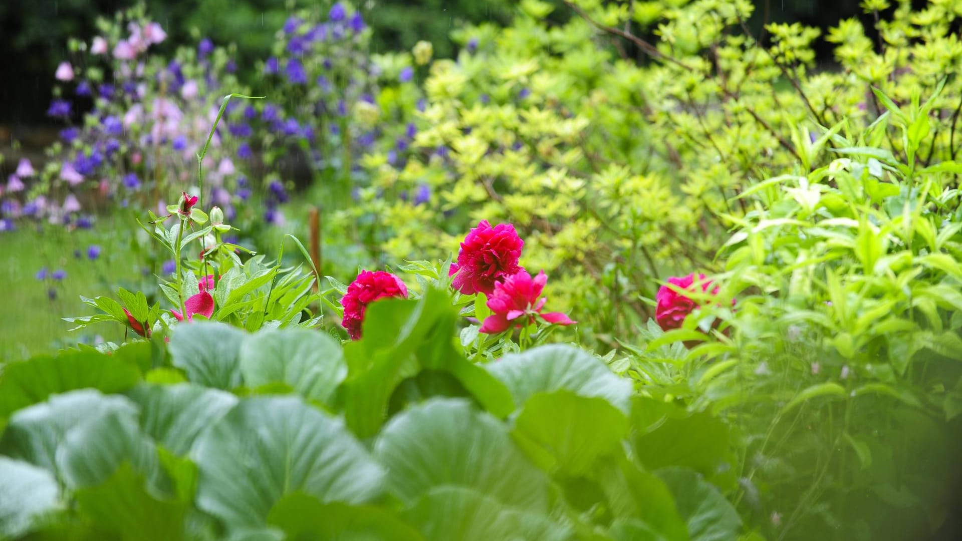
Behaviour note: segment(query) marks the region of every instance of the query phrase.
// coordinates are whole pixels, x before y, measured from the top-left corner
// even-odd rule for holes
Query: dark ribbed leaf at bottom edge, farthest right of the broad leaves
[[[664,468],[655,475],[671,490],[692,541],[727,541],[738,537],[742,518],[715,485],[687,468]]]

